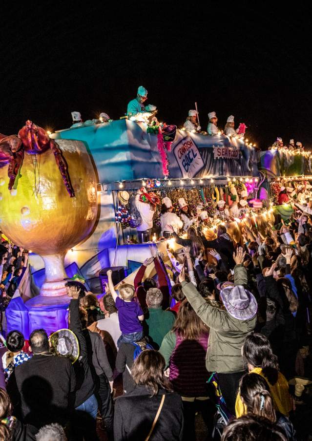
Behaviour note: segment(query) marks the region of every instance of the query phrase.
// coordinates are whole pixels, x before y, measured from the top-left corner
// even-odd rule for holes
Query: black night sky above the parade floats
[[[233,114],[262,149],[276,136],[312,147],[308,9],[278,2],[270,9],[241,2],[12,3],[1,2],[1,133],[17,133],[28,118],[44,128],[69,127],[72,110],[84,120],[101,111],[118,119],[144,85],[168,124],[181,126],[197,101],[205,129],[215,110],[219,128]]]

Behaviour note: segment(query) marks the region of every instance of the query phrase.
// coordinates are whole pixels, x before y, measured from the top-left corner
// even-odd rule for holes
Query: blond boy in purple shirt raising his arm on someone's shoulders
[[[132,343],[143,338],[142,321],[144,314],[139,303],[135,302],[134,287],[129,284],[121,285],[118,297],[112,281],[112,271],[107,271],[108,287],[118,309],[119,326],[122,335],[117,341],[119,347],[121,343]]]

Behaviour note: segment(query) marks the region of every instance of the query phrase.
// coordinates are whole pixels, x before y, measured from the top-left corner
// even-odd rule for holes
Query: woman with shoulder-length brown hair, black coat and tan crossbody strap
[[[114,440],[182,440],[181,397],[172,392],[165,376],[165,359],[146,349],[136,358],[131,375],[132,392],[115,403]]]

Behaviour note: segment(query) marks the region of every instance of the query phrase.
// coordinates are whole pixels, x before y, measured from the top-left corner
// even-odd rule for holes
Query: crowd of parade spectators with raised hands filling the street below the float
[[[67,330],[6,336],[1,439],[97,440],[98,418],[108,440],[195,440],[197,413],[208,440],[305,439],[295,408],[308,400],[296,378],[309,376],[311,217],[241,242],[224,225],[213,240],[196,225],[182,238],[172,220],[183,248],[151,245],[133,285],[116,289],[108,271],[99,301],[68,279]],[[27,253],[1,247],[8,295]]]

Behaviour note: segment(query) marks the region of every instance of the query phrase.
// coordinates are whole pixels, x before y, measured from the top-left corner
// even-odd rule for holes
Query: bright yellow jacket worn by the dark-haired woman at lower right
[[[258,374],[261,375],[261,377],[265,378],[270,388],[270,393],[273,399],[275,410],[278,410],[281,414],[288,416],[289,412],[292,409],[292,404],[291,396],[288,390],[288,382],[284,375],[279,372],[277,381],[272,386],[269,383],[268,379],[263,375],[261,368],[252,369],[252,371],[250,371],[250,374]],[[237,418],[247,414],[246,406],[242,403],[239,393],[236,397],[235,413]]]

